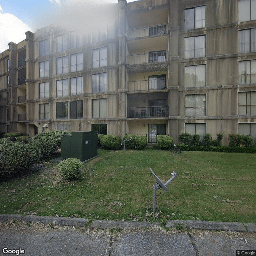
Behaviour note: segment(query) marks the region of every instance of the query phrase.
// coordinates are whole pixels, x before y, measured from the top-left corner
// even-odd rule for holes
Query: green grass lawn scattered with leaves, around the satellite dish
[[[76,216],[108,220],[210,220],[256,223],[256,154],[146,149],[98,150],[82,179],[66,182],[57,164],[43,162],[34,174],[0,183],[0,213]],[[155,179],[178,174],[168,192]]]

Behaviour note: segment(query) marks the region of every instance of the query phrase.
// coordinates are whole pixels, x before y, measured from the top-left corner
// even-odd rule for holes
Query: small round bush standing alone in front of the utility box
[[[67,158],[58,164],[60,176],[66,180],[81,178],[82,162],[77,158]]]

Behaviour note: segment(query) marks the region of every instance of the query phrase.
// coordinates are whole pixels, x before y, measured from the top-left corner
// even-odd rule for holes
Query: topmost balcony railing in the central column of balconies
[[[160,24],[155,26],[146,26],[143,28],[134,28],[127,30],[127,39],[147,37],[147,36],[160,36],[168,33],[169,24]]]

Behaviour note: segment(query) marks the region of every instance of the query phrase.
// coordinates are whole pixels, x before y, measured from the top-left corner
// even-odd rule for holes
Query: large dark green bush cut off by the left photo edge
[[[33,144],[3,141],[0,144],[0,176],[8,178],[26,172],[40,158],[38,148]]]

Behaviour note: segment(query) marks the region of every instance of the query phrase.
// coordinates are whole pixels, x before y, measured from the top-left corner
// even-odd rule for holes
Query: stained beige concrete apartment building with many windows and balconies
[[[256,138],[255,0],[118,0],[92,33],[49,26],[0,54],[0,130]]]

